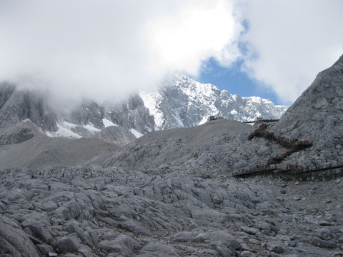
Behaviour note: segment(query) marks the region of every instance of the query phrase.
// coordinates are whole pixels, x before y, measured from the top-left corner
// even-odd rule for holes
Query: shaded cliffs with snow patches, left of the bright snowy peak
[[[121,122],[126,129],[123,126],[116,129],[104,128],[105,116],[111,119],[111,115],[114,115],[113,110],[105,110],[104,106],[100,106],[94,101],[84,101],[74,111],[67,112],[52,109],[47,99],[47,96],[39,92],[18,91],[13,84],[1,83],[0,146],[28,141],[37,133],[41,134],[42,132],[48,136],[95,137],[123,145],[135,139],[129,129],[139,127],[139,131],[142,133],[150,131],[141,125],[146,122],[146,126],[148,126],[147,120],[139,121],[140,115],[146,116],[146,119],[149,118],[149,111],[144,109],[141,99],[140,102],[137,100],[138,103],[135,103],[134,97],[132,97],[133,104],[127,106],[132,109],[129,109],[130,112],[125,115],[130,116],[132,122],[134,121],[136,124]],[[154,125],[150,127],[153,128]],[[96,131],[100,132],[96,133]]]

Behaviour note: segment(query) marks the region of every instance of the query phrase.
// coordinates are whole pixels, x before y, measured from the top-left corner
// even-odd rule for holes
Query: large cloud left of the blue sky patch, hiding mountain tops
[[[224,0],[0,1],[0,80],[60,99],[119,100],[240,55]]]

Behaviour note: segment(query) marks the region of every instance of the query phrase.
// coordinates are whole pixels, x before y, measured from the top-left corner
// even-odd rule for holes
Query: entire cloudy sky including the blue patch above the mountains
[[[341,0],[0,0],[0,80],[117,100],[182,73],[290,104],[343,54],[342,10]]]

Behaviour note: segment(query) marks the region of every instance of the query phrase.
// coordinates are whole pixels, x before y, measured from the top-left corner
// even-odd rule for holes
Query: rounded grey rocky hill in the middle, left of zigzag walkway
[[[270,156],[259,151],[263,146],[247,140],[253,129],[240,121],[219,119],[188,129],[155,131],[116,151],[105,165],[187,169],[206,176],[247,168]],[[254,162],[248,164],[247,159]]]

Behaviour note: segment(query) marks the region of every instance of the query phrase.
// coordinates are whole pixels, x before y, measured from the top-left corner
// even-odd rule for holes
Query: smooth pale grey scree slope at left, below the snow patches
[[[76,166],[118,148],[98,138],[49,138],[37,131],[27,141],[1,146],[0,167]]]

